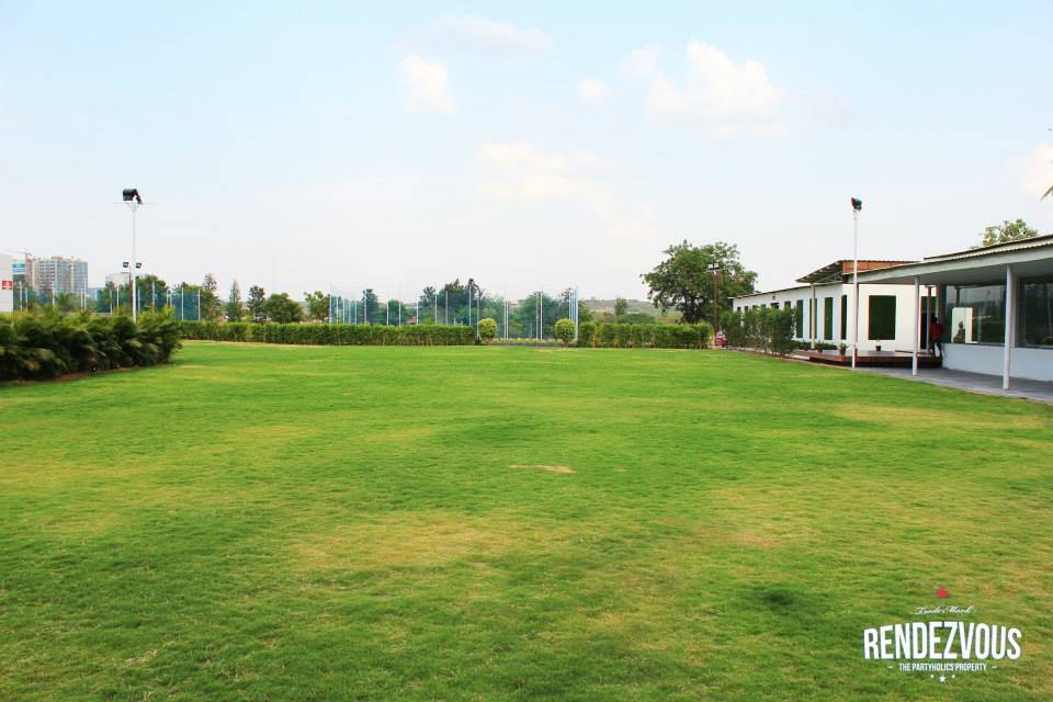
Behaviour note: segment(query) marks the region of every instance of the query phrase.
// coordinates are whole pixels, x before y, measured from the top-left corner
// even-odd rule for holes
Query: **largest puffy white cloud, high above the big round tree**
[[[650,82],[647,112],[660,120],[706,127],[714,136],[748,132],[779,135],[778,120],[783,93],[768,80],[765,65],[756,60],[736,64],[709,44],[688,42],[687,79],[681,88],[658,67],[654,46],[637,49],[622,64],[626,73]]]

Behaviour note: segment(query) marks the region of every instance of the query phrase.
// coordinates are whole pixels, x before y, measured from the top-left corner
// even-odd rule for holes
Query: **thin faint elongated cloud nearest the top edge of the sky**
[[[490,56],[542,54],[552,48],[552,39],[539,30],[475,16],[441,18],[420,38],[433,48]]]

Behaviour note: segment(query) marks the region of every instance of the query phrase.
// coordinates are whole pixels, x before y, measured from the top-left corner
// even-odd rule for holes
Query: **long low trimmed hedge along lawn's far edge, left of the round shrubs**
[[[308,346],[452,347],[475,343],[475,330],[444,325],[257,324],[254,321],[184,321],[183,339],[254,341]]]

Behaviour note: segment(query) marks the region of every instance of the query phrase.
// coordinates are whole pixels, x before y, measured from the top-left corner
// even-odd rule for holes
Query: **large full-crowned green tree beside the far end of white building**
[[[709,319],[716,329],[721,310],[731,309],[729,298],[754,292],[757,273],[741,264],[734,244],[697,247],[684,240],[670,246],[665,254],[665,261],[641,278],[649,287],[647,299],[663,313],[670,307],[679,309],[682,322]],[[710,270],[714,264],[715,272]]]

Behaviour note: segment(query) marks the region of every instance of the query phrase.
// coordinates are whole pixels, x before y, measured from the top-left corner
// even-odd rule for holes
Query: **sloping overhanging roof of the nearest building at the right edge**
[[[1053,274],[1053,235],[929,256],[916,263],[860,272],[860,283],[974,284],[1004,280],[1006,265],[1020,276]]]

